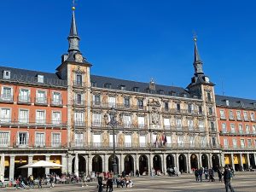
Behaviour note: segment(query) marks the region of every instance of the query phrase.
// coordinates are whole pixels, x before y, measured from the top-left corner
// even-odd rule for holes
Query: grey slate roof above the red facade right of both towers
[[[221,107],[256,109],[256,100],[252,99],[216,95],[215,100],[216,105]],[[229,106],[226,101],[229,101]]]

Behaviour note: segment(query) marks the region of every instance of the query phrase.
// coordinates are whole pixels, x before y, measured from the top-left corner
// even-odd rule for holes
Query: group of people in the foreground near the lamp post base
[[[98,192],[102,192],[103,188],[106,187],[106,192],[113,191],[113,184],[116,184],[117,188],[129,188],[133,186],[130,175],[125,175],[125,171],[117,177],[114,176],[113,172],[102,172],[96,173],[98,179]]]

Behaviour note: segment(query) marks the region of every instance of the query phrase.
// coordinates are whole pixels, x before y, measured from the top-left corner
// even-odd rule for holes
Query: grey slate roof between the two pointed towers
[[[125,86],[125,90],[133,91],[134,87],[137,87],[139,88],[139,92],[147,93],[149,87],[149,83],[142,83],[124,79],[114,79],[97,75],[90,75],[90,81],[92,83],[96,83],[96,87],[99,88],[104,88],[105,84],[111,84],[111,89],[113,90],[119,90],[120,85],[123,85]],[[160,94],[160,90],[163,91],[162,94]],[[161,84],[155,84],[155,90],[152,93],[165,96],[184,96],[185,94],[184,97],[190,97],[188,90],[185,90],[181,87],[167,86]]]

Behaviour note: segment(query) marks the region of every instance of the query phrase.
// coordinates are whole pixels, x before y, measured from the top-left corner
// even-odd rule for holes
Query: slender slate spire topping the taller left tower
[[[80,52],[79,50],[79,34],[77,30],[77,25],[76,25],[76,20],[75,20],[75,7],[72,8],[73,13],[72,13],[72,20],[71,20],[71,26],[70,26],[70,32],[69,36],[67,37],[68,39],[68,53],[76,53]]]

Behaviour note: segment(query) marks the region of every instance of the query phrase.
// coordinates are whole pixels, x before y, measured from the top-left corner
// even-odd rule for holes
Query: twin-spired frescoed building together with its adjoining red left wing
[[[195,73],[186,89],[153,79],[141,83],[91,74],[79,49],[74,9],[67,39],[68,52],[56,73],[0,67],[5,177],[108,172],[113,170],[113,143],[118,172],[150,174],[154,168],[166,173],[171,166],[192,172],[201,166],[233,165],[227,163],[232,153],[218,131],[221,107],[203,72],[196,38]],[[108,124],[113,109],[118,120],[114,131]],[[17,169],[36,160],[64,167]]]

